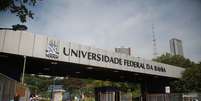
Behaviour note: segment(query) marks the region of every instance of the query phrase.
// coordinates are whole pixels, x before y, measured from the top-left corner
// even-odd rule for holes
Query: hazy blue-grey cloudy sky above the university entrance
[[[169,40],[183,42],[184,57],[201,61],[200,0],[42,0],[31,7],[34,19],[25,25],[34,34],[114,51],[132,48],[132,55],[153,58],[152,24],[158,55],[170,52]],[[0,27],[20,23],[0,12]]]

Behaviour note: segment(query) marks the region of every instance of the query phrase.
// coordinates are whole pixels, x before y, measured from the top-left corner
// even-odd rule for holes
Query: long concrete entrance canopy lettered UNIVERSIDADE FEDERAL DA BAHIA
[[[0,72],[19,81],[23,67],[29,74],[139,82],[143,93],[164,93],[165,86],[180,78],[184,71],[54,37],[1,30]]]

